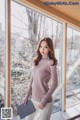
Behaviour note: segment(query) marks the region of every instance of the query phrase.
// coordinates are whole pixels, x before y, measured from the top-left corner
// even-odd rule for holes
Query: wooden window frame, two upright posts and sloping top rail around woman
[[[66,56],[67,56],[67,26],[78,29],[78,26],[71,25],[65,21],[57,19],[52,13],[38,9],[36,5],[27,4],[25,0],[12,0],[18,4],[31,8],[63,25],[63,45],[62,45],[62,87],[61,92],[61,110],[66,111]],[[80,31],[78,29],[78,31]],[[11,105],[11,0],[6,1],[6,106]],[[60,91],[59,90],[59,91]]]

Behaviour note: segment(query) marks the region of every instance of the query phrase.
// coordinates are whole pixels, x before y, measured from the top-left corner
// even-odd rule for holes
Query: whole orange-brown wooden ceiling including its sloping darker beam
[[[17,0],[16,0],[17,1]],[[80,29],[80,0],[19,0]],[[78,2],[79,5],[45,5],[44,2]]]

